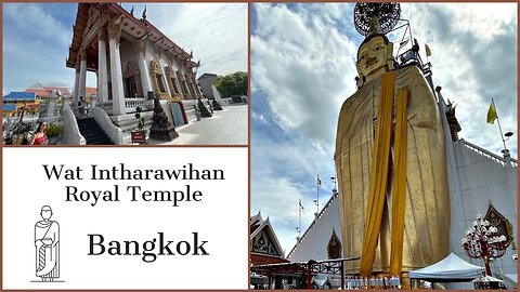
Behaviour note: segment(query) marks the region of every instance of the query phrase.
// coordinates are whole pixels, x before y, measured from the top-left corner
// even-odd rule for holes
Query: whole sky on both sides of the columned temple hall
[[[141,17],[142,3],[123,3]],[[247,3],[153,3],[147,19],[172,41],[202,59],[198,76],[247,70]],[[3,94],[36,82],[74,88],[65,67],[77,3],[3,4]],[[89,74],[87,85],[95,87]]]

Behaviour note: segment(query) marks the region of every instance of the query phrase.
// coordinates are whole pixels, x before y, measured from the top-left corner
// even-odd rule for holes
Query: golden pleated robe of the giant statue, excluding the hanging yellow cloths
[[[402,269],[408,271],[434,264],[447,255],[450,198],[444,135],[435,97],[416,66],[395,70],[394,98],[403,87],[407,88],[408,106]],[[362,253],[380,94],[381,78],[378,77],[350,96],[339,115],[336,171],[343,257],[358,257]],[[394,125],[393,122],[393,130]],[[373,271],[388,273],[389,269],[393,141],[391,145],[390,178]],[[346,273],[358,274],[359,268],[360,261],[347,262]]]

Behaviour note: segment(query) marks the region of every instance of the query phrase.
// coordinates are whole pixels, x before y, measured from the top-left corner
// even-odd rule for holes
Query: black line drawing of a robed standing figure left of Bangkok
[[[60,278],[60,225],[51,221],[52,209],[43,205],[42,221],[35,224],[36,276],[43,282]]]

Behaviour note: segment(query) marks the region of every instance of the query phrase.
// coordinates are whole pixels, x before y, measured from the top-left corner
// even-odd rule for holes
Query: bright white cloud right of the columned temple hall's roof
[[[157,3],[151,22],[202,59],[198,74],[247,71],[247,3]]]

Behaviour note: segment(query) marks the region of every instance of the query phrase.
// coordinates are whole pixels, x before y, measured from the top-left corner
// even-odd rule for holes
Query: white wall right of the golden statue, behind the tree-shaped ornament
[[[464,141],[453,143],[455,150],[456,173],[458,175],[461,208],[452,205],[451,252],[465,261],[483,266],[480,260],[471,260],[461,248],[467,228],[471,227],[478,213],[485,215],[489,202],[500,212],[514,226],[514,237],[517,243],[518,235],[518,168],[505,167],[503,163],[479,154],[465,145]],[[453,196],[453,193],[452,193]],[[512,261],[511,247],[506,254],[492,262],[491,269],[498,274],[517,274],[517,262]]]

